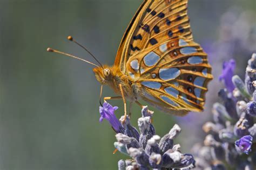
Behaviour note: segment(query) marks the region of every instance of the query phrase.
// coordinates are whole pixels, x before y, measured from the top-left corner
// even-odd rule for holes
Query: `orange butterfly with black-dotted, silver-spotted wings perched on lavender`
[[[145,0],[132,18],[112,66],[93,69],[102,85],[130,103],[144,100],[160,111],[200,112],[213,78],[207,54],[193,41],[188,0]],[[72,40],[72,38],[70,38]]]

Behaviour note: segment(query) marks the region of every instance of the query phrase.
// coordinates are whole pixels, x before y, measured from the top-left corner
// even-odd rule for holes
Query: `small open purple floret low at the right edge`
[[[235,147],[237,147],[240,152],[249,154],[249,152],[251,152],[252,140],[251,135],[246,135],[235,141]]]

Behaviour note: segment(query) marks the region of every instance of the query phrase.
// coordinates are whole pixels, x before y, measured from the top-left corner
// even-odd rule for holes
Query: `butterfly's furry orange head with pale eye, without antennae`
[[[112,69],[109,66],[95,67],[93,72],[95,72],[95,77],[101,84],[106,84],[108,81],[112,80]]]

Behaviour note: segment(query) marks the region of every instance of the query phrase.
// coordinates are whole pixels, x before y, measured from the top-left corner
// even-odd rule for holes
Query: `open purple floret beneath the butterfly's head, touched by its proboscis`
[[[102,115],[99,118],[99,121],[102,122],[103,119],[106,119],[107,121],[109,121],[109,123],[113,127],[114,131],[119,133],[120,132],[120,127],[122,127],[122,125],[119,122],[119,120],[117,119],[116,115],[114,115],[114,111],[116,111],[117,109],[118,109],[117,106],[113,107],[109,103],[105,102],[103,104],[103,107],[99,106],[99,113],[100,113],[100,115]]]

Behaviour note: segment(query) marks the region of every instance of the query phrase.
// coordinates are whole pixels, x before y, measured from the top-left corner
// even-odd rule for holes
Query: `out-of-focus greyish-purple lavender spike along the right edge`
[[[213,122],[208,121],[203,130],[208,133],[204,145],[193,147],[196,166],[199,169],[255,169],[256,151],[256,85],[255,55],[248,62],[246,74],[250,81],[232,77],[235,86],[220,90],[222,103],[213,105]],[[250,67],[250,72],[248,71]],[[254,90],[254,92],[251,92]],[[233,96],[232,96],[233,94]]]

